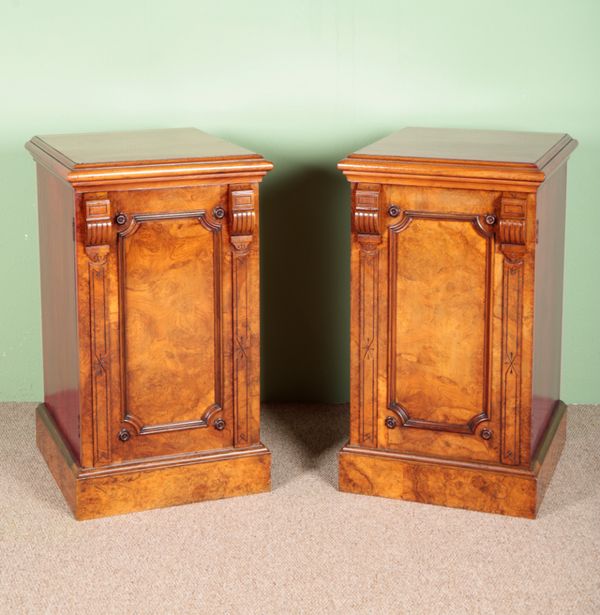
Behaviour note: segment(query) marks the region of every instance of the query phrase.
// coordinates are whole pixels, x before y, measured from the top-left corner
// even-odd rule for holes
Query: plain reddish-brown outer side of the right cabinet
[[[560,399],[566,183],[563,164],[537,193],[532,455]]]

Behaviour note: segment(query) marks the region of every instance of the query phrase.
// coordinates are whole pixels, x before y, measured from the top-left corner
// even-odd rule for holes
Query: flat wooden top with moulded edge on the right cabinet
[[[576,146],[564,133],[404,128],[350,154],[338,167],[351,181],[419,175],[539,185]]]

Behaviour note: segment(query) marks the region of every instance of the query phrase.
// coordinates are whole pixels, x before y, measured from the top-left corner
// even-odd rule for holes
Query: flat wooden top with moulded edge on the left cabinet
[[[264,175],[273,168],[260,154],[197,128],[44,135],[26,147],[71,183],[232,169]]]

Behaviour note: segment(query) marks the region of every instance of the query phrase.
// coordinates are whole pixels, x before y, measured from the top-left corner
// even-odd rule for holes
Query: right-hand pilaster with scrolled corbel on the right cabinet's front
[[[504,193],[497,230],[504,255],[502,272],[502,463],[520,461],[521,361],[524,257],[527,251],[527,195]]]

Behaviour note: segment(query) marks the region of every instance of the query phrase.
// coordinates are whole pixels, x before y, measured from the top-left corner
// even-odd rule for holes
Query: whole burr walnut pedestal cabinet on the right
[[[340,489],[535,517],[565,439],[564,134],[404,129],[352,186]]]

